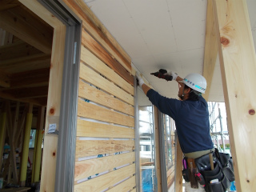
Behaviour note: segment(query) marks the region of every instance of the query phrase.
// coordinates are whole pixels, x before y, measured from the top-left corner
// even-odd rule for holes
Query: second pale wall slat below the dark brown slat
[[[81,63],[80,65],[79,76],[86,82],[90,82],[94,86],[97,86],[98,88],[101,88],[102,90],[113,94],[117,98],[120,98],[122,101],[134,106],[134,97],[131,94],[128,94],[126,91],[114,85],[113,82],[110,82],[106,78],[103,78],[100,74],[96,73],[94,70],[90,69],[83,63]]]

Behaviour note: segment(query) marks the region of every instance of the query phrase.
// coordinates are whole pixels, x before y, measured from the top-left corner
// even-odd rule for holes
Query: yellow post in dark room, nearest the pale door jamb
[[[42,159],[42,138],[43,138],[43,133],[42,129],[44,126],[45,122],[45,106],[41,106],[38,109],[38,127],[37,127],[37,142],[36,145],[34,146],[35,148],[35,156],[34,156],[34,166],[33,166],[33,177],[32,181],[33,182],[39,182],[39,174],[40,174],[40,168],[41,168],[41,159]]]

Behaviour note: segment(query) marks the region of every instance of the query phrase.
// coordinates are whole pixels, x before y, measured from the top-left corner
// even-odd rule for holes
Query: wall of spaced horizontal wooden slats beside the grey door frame
[[[134,77],[82,18],[74,191],[133,191]]]

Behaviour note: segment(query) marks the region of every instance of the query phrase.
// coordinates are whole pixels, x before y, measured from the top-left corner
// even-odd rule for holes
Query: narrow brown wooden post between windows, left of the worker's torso
[[[161,158],[160,158],[160,142],[159,142],[159,124],[158,124],[158,108],[154,106],[154,134],[155,134],[155,170],[158,179],[158,191],[162,191],[161,177]]]

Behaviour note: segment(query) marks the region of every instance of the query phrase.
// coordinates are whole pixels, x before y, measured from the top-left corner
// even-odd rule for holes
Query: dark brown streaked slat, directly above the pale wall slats
[[[85,30],[82,30],[82,45],[86,46],[88,50],[101,59],[102,62],[106,63],[106,65],[110,66],[111,69],[129,82],[130,85],[134,85],[134,77],[130,75],[130,73],[122,65],[120,65],[119,62],[111,57],[111,55]]]

